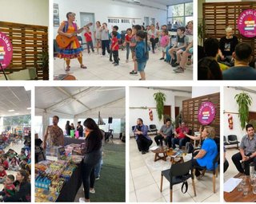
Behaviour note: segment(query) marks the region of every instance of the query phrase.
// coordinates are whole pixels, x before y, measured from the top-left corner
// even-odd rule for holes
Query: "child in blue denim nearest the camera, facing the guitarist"
[[[141,75],[139,80],[146,80],[144,69],[146,67],[146,61],[149,59],[149,51],[147,50],[147,33],[139,30],[138,33],[136,33],[136,41],[137,45],[134,59],[138,63],[138,72]]]

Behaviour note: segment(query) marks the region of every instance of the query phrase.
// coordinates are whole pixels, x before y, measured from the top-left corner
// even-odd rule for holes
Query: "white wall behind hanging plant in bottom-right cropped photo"
[[[242,92],[241,90],[235,90],[234,88],[227,88],[224,87],[224,116],[223,116],[223,127],[224,127],[224,135],[237,135],[238,140],[240,141],[242,139],[242,136],[246,135],[246,129],[242,130],[240,125],[240,120],[238,118],[238,104],[234,100],[234,96],[238,93]],[[252,92],[248,92],[250,96],[252,97],[253,103],[251,104],[249,111],[250,112],[256,112],[256,94]],[[228,124],[228,112],[234,112],[231,113],[233,116],[233,129],[230,130],[229,124]]]

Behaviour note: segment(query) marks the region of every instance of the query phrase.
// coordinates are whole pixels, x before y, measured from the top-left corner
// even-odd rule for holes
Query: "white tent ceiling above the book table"
[[[36,87],[35,108],[72,116],[124,117],[125,87]]]

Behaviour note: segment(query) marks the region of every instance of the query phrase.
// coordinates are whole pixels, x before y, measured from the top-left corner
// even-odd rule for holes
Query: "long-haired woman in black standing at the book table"
[[[83,125],[85,126],[86,145],[81,151],[84,154],[82,163],[82,182],[85,198],[80,198],[80,202],[90,202],[90,193],[94,194],[95,174],[94,167],[100,161],[102,156],[102,131],[91,118],[87,118]]]

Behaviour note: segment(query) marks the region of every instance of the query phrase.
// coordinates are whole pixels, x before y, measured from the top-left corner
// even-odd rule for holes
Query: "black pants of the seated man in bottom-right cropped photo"
[[[246,156],[250,156],[250,155],[251,155],[251,153]],[[234,166],[237,167],[237,170],[240,173],[244,173],[245,175],[250,175],[250,163],[254,162],[254,169],[255,169],[256,158],[254,157],[252,159],[247,160],[246,162],[243,162],[244,169],[242,168],[242,163],[240,163],[241,160],[242,160],[242,155],[240,154],[240,152],[238,152],[237,154],[234,154],[232,156],[232,161],[234,163]]]

